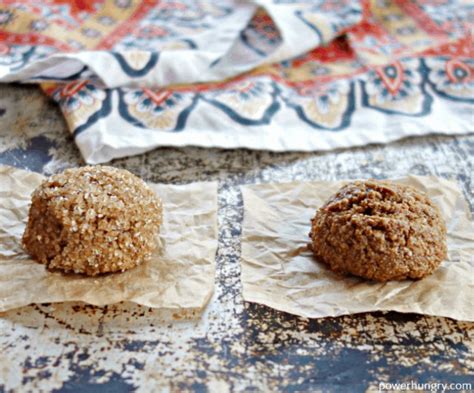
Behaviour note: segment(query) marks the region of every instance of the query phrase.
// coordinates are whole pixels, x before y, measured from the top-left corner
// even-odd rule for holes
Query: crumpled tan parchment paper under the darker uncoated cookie
[[[449,258],[419,281],[377,283],[332,273],[307,249],[310,219],[344,181],[242,188],[243,297],[308,318],[399,311],[474,321],[474,225],[458,186],[436,177],[397,180],[426,192],[448,227]]]

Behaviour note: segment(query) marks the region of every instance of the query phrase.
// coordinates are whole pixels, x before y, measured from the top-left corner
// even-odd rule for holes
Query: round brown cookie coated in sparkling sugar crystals
[[[68,169],[33,192],[23,246],[51,269],[125,271],[150,257],[161,222],[160,199],[132,173]]]

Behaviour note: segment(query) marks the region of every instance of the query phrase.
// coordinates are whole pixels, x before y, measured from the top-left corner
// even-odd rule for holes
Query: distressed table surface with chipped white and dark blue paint
[[[58,108],[36,87],[0,86],[0,129],[0,164],[46,174],[84,164]],[[362,392],[383,382],[472,383],[473,324],[399,313],[308,320],[244,303],[239,185],[433,174],[457,180],[472,210],[473,164],[474,136],[310,154],[163,148],[116,160],[153,182],[219,181],[215,295],[195,320],[131,304],[0,313],[0,392]]]

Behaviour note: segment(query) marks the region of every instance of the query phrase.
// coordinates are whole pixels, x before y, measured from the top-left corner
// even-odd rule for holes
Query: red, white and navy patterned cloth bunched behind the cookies
[[[470,0],[0,0],[0,81],[41,83],[89,163],[468,133],[472,20]]]

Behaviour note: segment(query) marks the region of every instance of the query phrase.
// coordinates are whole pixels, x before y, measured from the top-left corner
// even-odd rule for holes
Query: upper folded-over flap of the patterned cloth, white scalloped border
[[[107,88],[217,81],[302,55],[361,18],[357,1],[346,1],[340,10],[307,1],[118,3],[108,0],[102,12],[75,20],[76,25],[68,28],[48,23],[43,15],[32,18],[27,12],[34,6],[12,3],[5,16],[19,19],[17,24],[23,28],[29,22],[31,29],[46,37],[58,36],[49,45],[38,38],[20,40],[34,45],[9,46],[0,63],[0,81],[62,82],[88,76]],[[55,12],[53,5],[37,7]],[[106,16],[121,8],[121,20]],[[23,30],[20,26],[15,27]],[[13,35],[6,35],[7,42],[13,40]],[[89,72],[78,75],[83,67]]]

